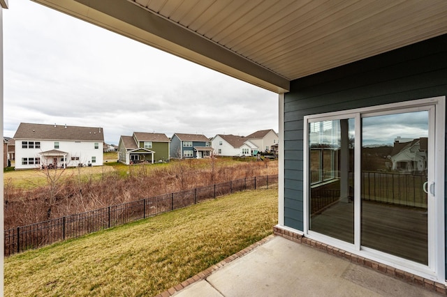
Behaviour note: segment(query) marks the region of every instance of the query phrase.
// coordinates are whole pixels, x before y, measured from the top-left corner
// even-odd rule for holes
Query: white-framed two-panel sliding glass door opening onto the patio
[[[444,102],[415,100],[306,116],[307,235],[439,275]]]

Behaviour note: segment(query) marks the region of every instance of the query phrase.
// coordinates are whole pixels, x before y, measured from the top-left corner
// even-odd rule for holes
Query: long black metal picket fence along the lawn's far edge
[[[4,254],[8,256],[41,248],[57,241],[149,218],[233,192],[268,188],[275,183],[278,183],[277,175],[242,178],[8,229],[4,231]]]

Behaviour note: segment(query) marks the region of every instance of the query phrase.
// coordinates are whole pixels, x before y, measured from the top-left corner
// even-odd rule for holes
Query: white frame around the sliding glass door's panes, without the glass
[[[425,266],[423,264],[417,264],[413,261],[402,259],[400,257],[395,257],[384,252],[379,252],[376,250],[371,250],[369,248],[360,247],[360,216],[357,216],[354,220],[354,244],[346,243],[344,241],[339,241],[336,238],[330,236],[325,236],[323,234],[317,234],[316,232],[309,231],[309,214],[308,214],[308,192],[309,192],[309,177],[307,175],[307,168],[309,167],[308,162],[308,142],[309,142],[309,125],[308,123],[314,121],[324,121],[324,120],[337,120],[337,119],[355,119],[356,121],[356,139],[355,147],[361,147],[361,137],[358,132],[361,129],[361,118],[362,116],[374,116],[374,115],[385,115],[394,114],[395,112],[411,112],[418,110],[429,110],[436,106],[435,111],[429,116],[430,134],[429,138],[434,139],[433,151],[430,151],[429,158],[435,158],[436,164],[441,166],[434,167],[434,177],[428,177],[428,181],[434,184],[434,191],[437,197],[444,197],[444,164],[445,164],[445,143],[444,135],[446,129],[446,96],[439,96],[434,98],[426,98],[420,100],[411,100],[405,102],[391,103],[386,105],[377,105],[373,107],[363,107],[359,109],[344,110],[340,112],[329,112],[325,114],[314,114],[305,116],[304,120],[304,135],[303,135],[303,233],[305,236],[315,239],[316,241],[321,241],[323,243],[328,243],[337,248],[342,248],[347,252],[353,254],[358,254],[361,257],[372,259],[395,268],[399,268],[402,271],[408,271],[415,275],[425,277],[429,280],[435,282],[445,283],[446,282],[446,272],[445,272],[445,222],[444,222],[444,199],[429,199],[429,222],[428,222],[428,241],[433,241],[434,244],[429,244],[429,264]],[[434,114],[434,116],[432,116]],[[433,128],[436,129],[433,129]],[[356,172],[354,177],[354,182],[356,185],[360,185],[360,149],[355,150],[354,167]],[[431,155],[431,157],[430,157]],[[433,162],[433,161],[432,161]],[[434,162],[432,163],[434,164]],[[356,199],[360,197],[360,187],[355,187]],[[431,201],[431,204],[430,204]],[[436,203],[436,206],[433,205]],[[360,213],[360,201],[356,201],[354,204],[354,213]],[[431,206],[431,207],[430,207]],[[283,219],[284,220],[284,219]]]

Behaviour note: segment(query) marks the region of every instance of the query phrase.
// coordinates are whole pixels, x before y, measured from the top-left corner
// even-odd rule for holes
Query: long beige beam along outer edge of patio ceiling
[[[159,50],[277,93],[288,79],[127,0],[33,0]]]

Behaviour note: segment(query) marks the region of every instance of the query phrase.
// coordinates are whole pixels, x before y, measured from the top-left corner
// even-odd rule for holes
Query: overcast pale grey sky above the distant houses
[[[132,132],[278,132],[278,96],[29,0],[3,10],[4,131],[19,123]]]

